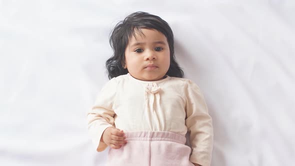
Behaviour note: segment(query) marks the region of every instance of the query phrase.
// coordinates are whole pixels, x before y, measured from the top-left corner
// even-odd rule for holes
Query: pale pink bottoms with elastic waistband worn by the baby
[[[191,148],[185,136],[167,131],[125,132],[128,141],[119,149],[109,148],[106,165],[181,165],[189,161]]]

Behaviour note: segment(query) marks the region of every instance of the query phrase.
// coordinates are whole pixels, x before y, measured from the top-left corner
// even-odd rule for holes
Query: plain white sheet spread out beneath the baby
[[[213,166],[294,164],[295,1],[0,0],[0,165],[103,165],[85,113],[109,32],[134,11],[173,29],[213,118]]]

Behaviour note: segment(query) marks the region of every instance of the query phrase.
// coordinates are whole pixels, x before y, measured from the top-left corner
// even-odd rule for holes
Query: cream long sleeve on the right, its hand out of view
[[[202,166],[209,166],[213,147],[212,119],[199,87],[187,80],[186,87],[186,119],[187,131],[190,132],[192,153],[189,160]]]

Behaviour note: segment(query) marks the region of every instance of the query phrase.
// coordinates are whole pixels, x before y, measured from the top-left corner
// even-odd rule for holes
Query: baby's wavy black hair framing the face
[[[106,60],[108,78],[128,73],[125,64],[125,48],[129,38],[135,36],[135,30],[141,32],[140,28],[155,29],[165,35],[170,50],[170,66],[166,75],[183,77],[183,71],[175,60],[173,32],[168,23],[159,16],[147,12],[134,12],[124,20],[119,21],[113,28],[109,37],[109,43],[113,49],[112,56]],[[141,32],[142,33],[142,32]]]

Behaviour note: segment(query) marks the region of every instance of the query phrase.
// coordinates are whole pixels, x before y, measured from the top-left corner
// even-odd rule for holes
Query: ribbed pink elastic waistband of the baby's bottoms
[[[173,141],[184,144],[185,136],[168,131],[131,131],[125,132],[126,140]]]

